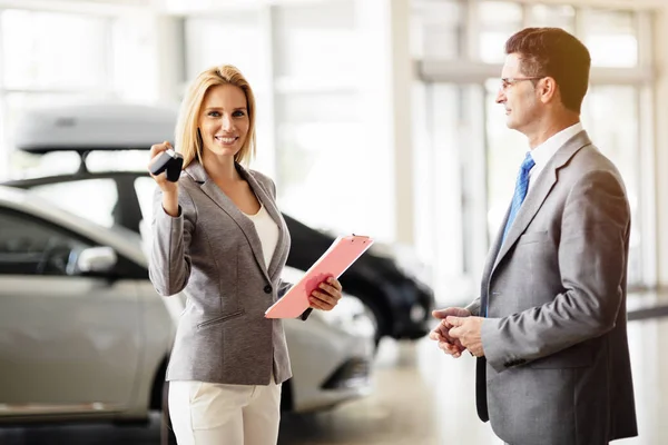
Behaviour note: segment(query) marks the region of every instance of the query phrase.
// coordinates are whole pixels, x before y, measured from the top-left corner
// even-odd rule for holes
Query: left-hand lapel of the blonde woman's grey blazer
[[[239,229],[242,229],[242,233],[246,236],[246,239],[250,245],[255,260],[257,261],[267,280],[271,281],[269,274],[267,273],[267,268],[265,267],[264,263],[262,243],[253,221],[242,214],[232,199],[229,199],[227,195],[220,190],[216,182],[209,178],[202,164],[194,160],[188,167],[186,167],[186,172],[199,184],[202,191],[204,191],[204,194],[208,196],[223,211],[225,211],[237,224]],[[253,191],[255,191],[255,189]]]

